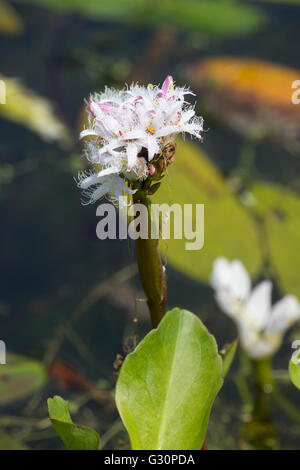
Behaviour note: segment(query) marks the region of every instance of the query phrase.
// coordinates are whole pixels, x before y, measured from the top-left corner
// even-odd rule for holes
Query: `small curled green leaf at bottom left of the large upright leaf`
[[[96,431],[86,426],[74,424],[69,404],[63,398],[48,398],[51,423],[68,450],[98,450],[100,438]]]

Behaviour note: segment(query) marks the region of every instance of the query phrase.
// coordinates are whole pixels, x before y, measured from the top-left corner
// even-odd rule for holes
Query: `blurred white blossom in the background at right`
[[[272,306],[271,281],[252,288],[239,260],[216,259],[210,282],[217,303],[236,322],[241,344],[253,359],[273,355],[285,331],[300,318],[296,297],[287,295]]]

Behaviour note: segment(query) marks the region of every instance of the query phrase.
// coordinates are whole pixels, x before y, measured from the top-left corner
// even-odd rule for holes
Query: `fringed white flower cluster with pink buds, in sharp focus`
[[[78,186],[87,203],[104,195],[115,202],[123,193],[134,193],[137,182],[158,180],[162,169],[173,161],[175,147],[171,155],[167,150],[174,146],[177,134],[186,132],[201,139],[203,120],[195,115],[186,95],[193,93],[175,87],[171,76],[161,88],[132,84],[91,95],[89,128],[80,138],[88,138],[85,156],[99,169],[79,176]],[[162,166],[159,160],[164,156],[167,162]]]

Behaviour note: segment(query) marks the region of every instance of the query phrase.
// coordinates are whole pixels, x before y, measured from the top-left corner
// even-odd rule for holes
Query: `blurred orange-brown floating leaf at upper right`
[[[214,57],[193,65],[188,80],[210,112],[253,138],[300,149],[300,106],[292,84],[300,72],[259,60]],[[298,87],[299,88],[299,87]]]

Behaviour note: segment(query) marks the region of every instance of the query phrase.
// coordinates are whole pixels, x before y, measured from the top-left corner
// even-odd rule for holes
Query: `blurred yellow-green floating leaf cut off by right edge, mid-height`
[[[252,193],[280,287],[300,299],[300,197],[284,186],[263,182],[254,184]]]

